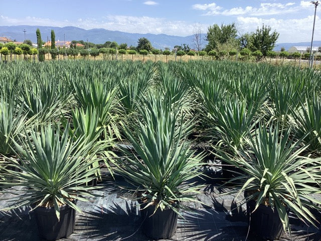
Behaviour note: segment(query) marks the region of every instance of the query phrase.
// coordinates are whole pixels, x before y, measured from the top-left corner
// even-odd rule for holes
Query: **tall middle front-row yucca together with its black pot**
[[[128,182],[123,188],[140,203],[143,232],[154,239],[169,238],[182,201],[196,200],[200,187],[187,181],[199,175],[202,157],[185,141],[183,130],[191,123],[183,122],[179,106],[152,92],[142,102],[137,106],[139,123],[124,125],[132,150],[121,150],[125,159],[116,161],[117,172]]]

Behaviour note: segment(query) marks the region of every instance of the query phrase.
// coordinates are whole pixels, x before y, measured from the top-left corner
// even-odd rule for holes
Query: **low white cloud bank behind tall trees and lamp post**
[[[254,32],[262,25],[270,26],[272,31],[280,33],[278,43],[298,43],[310,41],[314,16],[303,19],[261,19],[256,17],[238,17],[237,23],[241,33]],[[316,16],[315,21],[319,21]],[[308,37],[307,37],[308,36]],[[315,25],[314,39],[321,39],[321,27]]]

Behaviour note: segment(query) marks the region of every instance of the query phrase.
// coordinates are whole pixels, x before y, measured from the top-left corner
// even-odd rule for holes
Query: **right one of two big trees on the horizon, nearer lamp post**
[[[260,50],[263,56],[272,50],[275,46],[279,34],[274,31],[270,34],[271,27],[262,26],[261,29],[257,28],[256,32],[252,34],[252,42],[249,46],[251,51]]]

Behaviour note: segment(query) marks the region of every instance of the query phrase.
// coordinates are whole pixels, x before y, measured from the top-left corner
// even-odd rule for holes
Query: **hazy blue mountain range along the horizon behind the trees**
[[[192,49],[195,48],[193,42],[193,35],[180,37],[166,34],[132,34],[120,31],[110,31],[106,29],[90,29],[85,30],[77,27],[50,27],[50,26],[0,26],[0,37],[7,37],[18,42],[23,42],[26,39],[30,39],[32,42],[37,42],[36,30],[40,29],[41,37],[43,41],[50,40],[51,30],[55,31],[56,41],[60,40],[87,40],[94,44],[103,44],[106,41],[116,41],[118,44],[126,43],[128,46],[137,46],[139,38],[147,38],[151,45],[156,49],[173,49],[175,45],[188,44]],[[26,31],[26,32],[24,32]],[[202,47],[207,45],[205,40],[206,34],[202,34]],[[310,42],[301,43],[277,43],[274,50],[279,51],[282,47],[288,50],[292,46],[310,46]],[[313,46],[321,46],[321,41],[313,41]]]

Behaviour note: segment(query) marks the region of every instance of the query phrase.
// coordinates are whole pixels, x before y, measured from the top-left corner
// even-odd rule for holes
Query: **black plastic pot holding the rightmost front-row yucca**
[[[278,239],[284,232],[282,222],[277,210],[260,204],[255,209],[256,201],[250,200],[246,203],[247,217],[250,226],[250,232],[261,239]],[[287,209],[287,214],[289,209]]]

